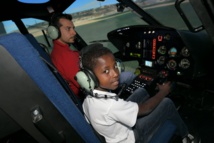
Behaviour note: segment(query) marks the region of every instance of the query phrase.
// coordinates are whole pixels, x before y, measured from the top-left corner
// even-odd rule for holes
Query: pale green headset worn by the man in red
[[[60,32],[60,29],[59,27],[55,24],[56,20],[58,17],[60,17],[62,14],[53,14],[51,19],[50,19],[50,23],[49,23],[49,26],[47,28],[47,33],[48,33],[48,36],[55,40],[55,39],[58,39],[60,36],[61,36],[61,32]]]

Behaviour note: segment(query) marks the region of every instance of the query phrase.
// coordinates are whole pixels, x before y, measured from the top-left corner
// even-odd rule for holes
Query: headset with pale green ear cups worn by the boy
[[[80,87],[83,89],[83,92],[92,94],[93,90],[96,87],[99,87],[99,80],[97,79],[96,75],[93,73],[93,71],[84,68],[82,65],[82,57],[84,56],[85,53],[92,50],[94,46],[102,46],[100,43],[92,44],[90,46],[85,47],[81,51],[81,56],[80,56],[80,71],[76,74],[75,79],[79,83]],[[96,52],[96,51],[94,51]],[[116,60],[117,66],[119,69],[119,73],[121,73],[122,67],[121,67],[121,61]],[[93,95],[93,94],[92,94]]]

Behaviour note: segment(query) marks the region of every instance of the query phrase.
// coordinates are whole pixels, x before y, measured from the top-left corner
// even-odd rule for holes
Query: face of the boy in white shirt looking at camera
[[[97,59],[94,73],[99,80],[99,87],[115,90],[119,85],[119,70],[112,54],[106,54]]]

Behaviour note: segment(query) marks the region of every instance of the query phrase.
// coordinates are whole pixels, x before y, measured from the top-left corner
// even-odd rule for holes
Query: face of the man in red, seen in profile
[[[74,30],[73,22],[65,18],[61,18],[59,22],[62,25],[60,27],[61,37],[59,40],[64,44],[74,43],[76,31]]]

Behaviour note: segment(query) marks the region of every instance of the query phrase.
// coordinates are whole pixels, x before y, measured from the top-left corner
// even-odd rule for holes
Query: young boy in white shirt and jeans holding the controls
[[[118,87],[120,74],[112,52],[96,44],[86,48],[86,52],[81,51],[81,66],[94,74],[96,79],[91,79],[97,80],[97,84],[84,99],[83,110],[107,143],[147,143],[166,120],[177,126],[176,134],[183,143],[193,140],[173,102],[165,98],[170,92],[170,82],[157,84],[159,92],[151,98],[141,88],[127,100],[120,99],[111,92]]]

